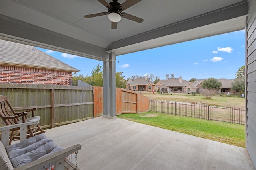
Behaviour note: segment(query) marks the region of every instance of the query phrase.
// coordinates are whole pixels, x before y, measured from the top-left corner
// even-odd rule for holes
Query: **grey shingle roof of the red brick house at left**
[[[33,46],[1,39],[0,64],[70,72],[80,71],[39,49],[35,49]]]

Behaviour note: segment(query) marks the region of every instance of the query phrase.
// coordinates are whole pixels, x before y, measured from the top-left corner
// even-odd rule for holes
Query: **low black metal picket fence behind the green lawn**
[[[244,109],[150,100],[150,111],[245,125]]]

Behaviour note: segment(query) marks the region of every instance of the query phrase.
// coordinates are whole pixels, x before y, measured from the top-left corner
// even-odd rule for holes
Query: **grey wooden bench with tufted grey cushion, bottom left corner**
[[[5,128],[0,127],[0,130]],[[76,166],[67,159],[67,156],[80,149],[79,144],[67,149],[60,147],[52,139],[47,138],[45,133],[9,146],[4,146],[0,141],[0,169],[6,166],[6,170],[51,170],[53,167],[55,170],[74,170]]]

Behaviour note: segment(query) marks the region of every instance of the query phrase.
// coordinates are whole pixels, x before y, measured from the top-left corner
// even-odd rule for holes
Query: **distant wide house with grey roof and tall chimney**
[[[193,84],[189,81],[182,80],[182,77],[179,78],[170,78],[163,83],[159,87],[159,92],[196,92],[196,88],[194,88]]]

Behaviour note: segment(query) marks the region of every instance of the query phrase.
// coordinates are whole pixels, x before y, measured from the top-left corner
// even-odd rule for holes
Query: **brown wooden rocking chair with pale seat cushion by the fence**
[[[34,116],[34,111],[36,108],[24,111],[24,112],[15,112],[12,106],[10,105],[9,98],[6,96],[0,96],[0,117],[6,125],[14,125],[18,123],[30,122],[30,121],[39,121],[40,116]],[[10,114],[9,109],[12,111],[13,115]],[[28,113],[32,112],[32,117],[28,118]],[[22,117],[22,119],[19,119]],[[35,127],[34,127],[35,126]],[[45,131],[36,123],[36,125],[28,125],[28,134],[27,138],[33,137]],[[38,130],[38,131],[37,131]],[[13,139],[20,139],[19,128],[10,129],[10,139],[9,145],[11,145]]]

